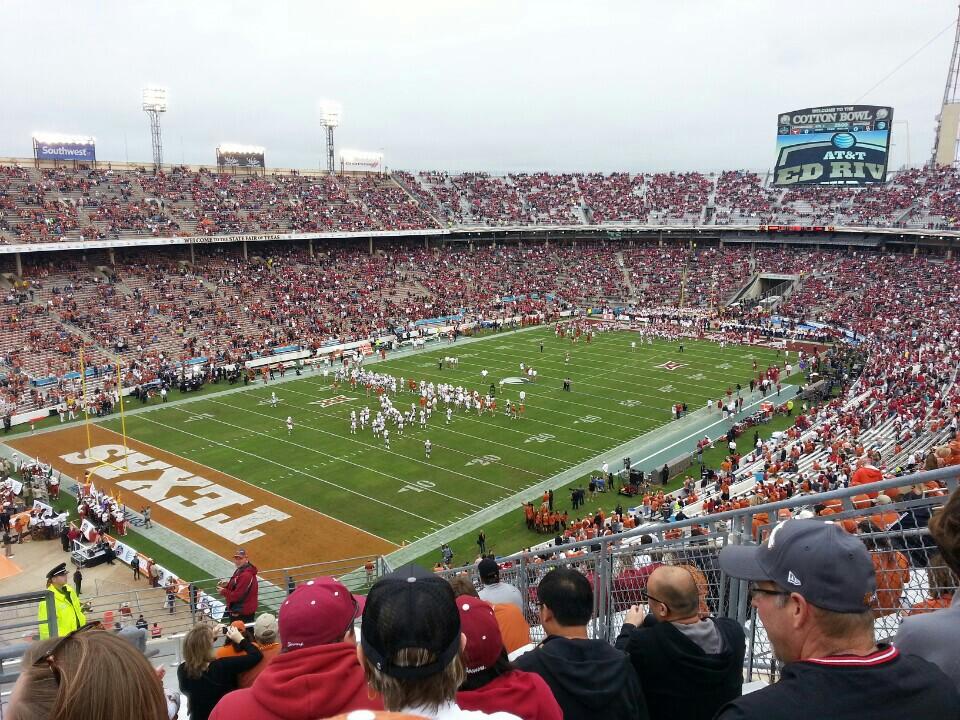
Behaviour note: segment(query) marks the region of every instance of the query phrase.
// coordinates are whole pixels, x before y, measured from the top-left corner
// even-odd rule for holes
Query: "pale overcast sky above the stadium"
[[[956,15],[953,0],[3,0],[0,156],[56,131],[147,162],[155,83],[166,162],[212,164],[226,141],[316,168],[328,97],[338,148],[391,168],[765,169],[778,112],[859,101],[894,107],[893,168],[930,154],[952,28],[864,93]]]

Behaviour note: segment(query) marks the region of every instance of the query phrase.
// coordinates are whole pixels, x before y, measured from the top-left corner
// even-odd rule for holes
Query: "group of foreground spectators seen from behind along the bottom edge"
[[[928,523],[955,588],[960,491]],[[888,596],[890,571],[877,557],[895,555],[869,535],[789,519],[759,544],[720,549],[709,569],[690,559],[694,545],[689,557],[645,555],[641,546],[640,564],[613,583],[622,594],[613,644],[592,637],[598,577],[576,557],[528,565],[529,598],[514,568],[492,557],[447,577],[406,565],[366,596],[314,578],[292,588],[276,613],[255,613],[254,584],[244,594],[249,615],[189,631],[179,692],[164,691],[145,627],[85,623],[61,563],[47,575],[61,632],[28,648],[8,711],[17,720],[166,720],[185,702],[194,720],[359,720],[384,711],[463,720],[957,717],[956,606],[925,607],[893,636],[878,636],[875,603]],[[245,553],[237,563],[221,583],[230,602],[231,583],[256,573]],[[714,614],[716,585],[706,578],[719,570],[749,581],[782,663],[777,682],[744,686],[744,628]],[[543,636],[536,644],[534,629]]]

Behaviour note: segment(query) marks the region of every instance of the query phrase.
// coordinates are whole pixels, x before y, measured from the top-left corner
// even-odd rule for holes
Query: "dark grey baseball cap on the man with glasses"
[[[859,538],[822,520],[787,520],[762,545],[728,545],[720,569],[744,580],[775,582],[824,610],[870,609],[877,579]]]

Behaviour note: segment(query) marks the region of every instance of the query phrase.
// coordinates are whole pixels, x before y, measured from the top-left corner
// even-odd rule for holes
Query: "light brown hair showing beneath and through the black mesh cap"
[[[419,667],[435,662],[437,656],[423,648],[403,648],[390,659],[400,667]],[[439,673],[415,680],[399,680],[386,675],[371,665],[366,656],[363,658],[363,673],[367,685],[383,697],[383,707],[387,710],[422,707],[436,711],[454,700],[457,688],[467,677],[460,654]]]

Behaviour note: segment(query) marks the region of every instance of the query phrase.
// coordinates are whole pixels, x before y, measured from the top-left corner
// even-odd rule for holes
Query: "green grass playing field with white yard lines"
[[[362,388],[334,389],[319,372],[128,416],[127,432],[394,543],[408,543],[670,422],[675,402],[695,410],[737,382],[745,386],[753,359],[764,368],[777,355],[766,348],[721,350],[715,343],[690,340],[682,353],[668,341],[652,347],[638,343],[632,351],[635,339],[632,333],[612,332],[574,344],[544,328],[444,343],[376,363],[377,372],[481,392],[497,383],[496,416],[460,411],[447,425],[441,411],[426,429],[407,426],[403,436],[391,426],[390,450],[369,426],[356,435],[349,432],[350,410],[369,405],[375,415],[376,398]],[[459,366],[438,370],[444,356],[459,358]],[[536,383],[500,385],[503,378],[520,374],[521,362],[537,369]],[[659,367],[667,362],[682,366]],[[567,376],[572,392],[561,387]],[[502,412],[503,401],[516,401],[521,388],[527,392],[526,416],[512,420]],[[276,408],[269,403],[271,392],[280,398]],[[400,393],[394,404],[405,409],[416,399]],[[288,415],[295,422],[289,436]],[[119,431],[117,418],[104,425]],[[427,437],[433,443],[430,460],[424,454]],[[562,493],[558,497],[567,499]],[[508,549],[515,548],[498,546]]]

